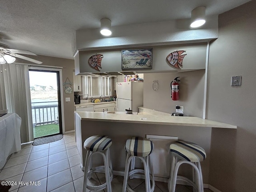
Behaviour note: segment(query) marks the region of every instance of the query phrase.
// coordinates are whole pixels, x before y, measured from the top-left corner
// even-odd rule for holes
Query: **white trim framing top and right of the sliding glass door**
[[[62,69],[54,68],[51,66],[46,67],[36,67],[30,66],[28,69],[36,69],[36,70],[53,70],[58,71],[60,73],[60,103],[61,103],[61,117],[62,117],[62,133],[65,133],[65,123],[64,123],[64,99],[63,99],[63,86],[62,86]]]

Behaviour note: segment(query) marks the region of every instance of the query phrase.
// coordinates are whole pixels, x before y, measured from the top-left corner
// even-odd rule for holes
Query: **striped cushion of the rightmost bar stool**
[[[170,151],[174,152],[179,158],[190,162],[200,162],[206,158],[206,152],[202,147],[187,141],[176,141],[170,144]]]

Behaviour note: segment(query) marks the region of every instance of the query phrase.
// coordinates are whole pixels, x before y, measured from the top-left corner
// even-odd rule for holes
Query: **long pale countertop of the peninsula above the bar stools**
[[[175,126],[233,128],[233,129],[237,128],[237,126],[234,126],[234,125],[202,119],[198,117],[152,115],[144,112],[138,113],[138,114],[117,114],[117,113],[106,114],[103,112],[76,112],[76,113],[81,117],[81,120],[162,124],[162,125],[175,125]]]

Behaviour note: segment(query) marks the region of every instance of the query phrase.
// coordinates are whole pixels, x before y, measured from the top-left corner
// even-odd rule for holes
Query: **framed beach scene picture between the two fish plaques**
[[[122,50],[122,69],[152,69],[152,48]]]

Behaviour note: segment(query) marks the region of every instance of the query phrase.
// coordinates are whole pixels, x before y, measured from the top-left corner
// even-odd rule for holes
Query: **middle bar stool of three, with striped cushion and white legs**
[[[127,185],[127,180],[128,177],[138,172],[144,173],[146,192],[153,192],[155,188],[155,181],[152,164],[149,159],[149,155],[154,148],[153,142],[146,138],[132,137],[126,140],[124,148],[127,152],[127,156],[124,171],[123,192],[126,192],[126,188],[128,192],[133,192],[133,190]],[[139,158],[142,161],[144,169],[134,168],[133,160],[135,160],[135,158]],[[131,163],[131,170],[129,171]],[[152,182],[152,187],[150,187],[150,180]]]

